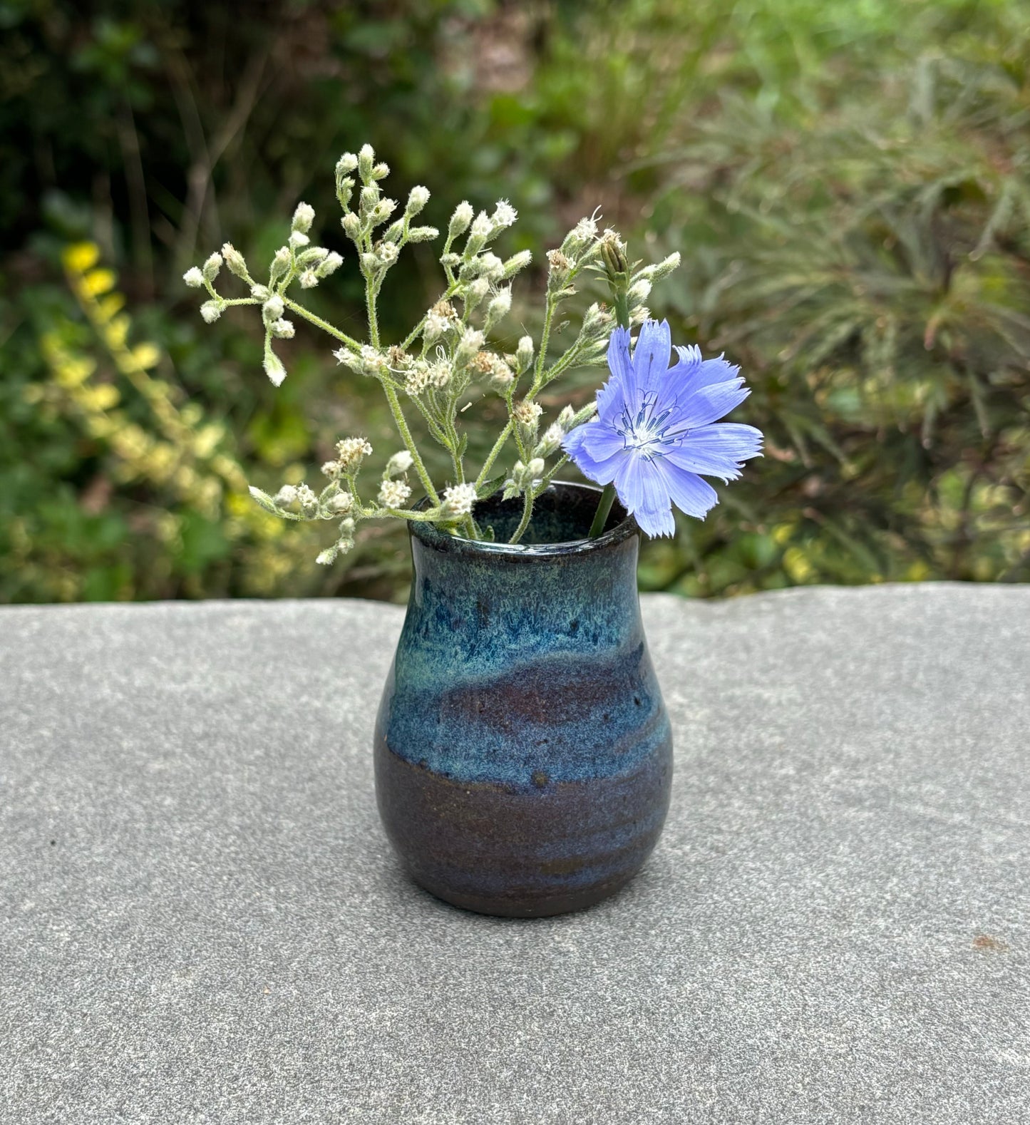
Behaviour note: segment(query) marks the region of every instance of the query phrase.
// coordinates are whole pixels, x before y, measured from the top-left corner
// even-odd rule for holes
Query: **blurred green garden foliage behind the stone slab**
[[[300,198],[331,214],[328,170],[365,137],[433,191],[428,223],[509,198],[498,253],[541,261],[596,204],[651,232],[650,260],[683,252],[653,312],[742,364],[770,448],[647,546],[647,587],[1027,580],[1028,27],[1026,0],[2,0],[0,600],[403,592],[396,532],[326,573],[306,528],[242,528],[224,479],[219,510],[133,476],[125,433],[166,438],[58,259],[90,238],[118,267],[151,378],[249,482],[299,480],[340,433],[390,449],[376,388],[317,338],[283,341],[275,390],[260,331],[231,309],[202,332],[180,280],[226,240],[271,256]],[[343,272],[311,308],[347,331]],[[409,276],[390,339],[435,296]],[[117,388],[124,432],[90,431],[47,339]]]

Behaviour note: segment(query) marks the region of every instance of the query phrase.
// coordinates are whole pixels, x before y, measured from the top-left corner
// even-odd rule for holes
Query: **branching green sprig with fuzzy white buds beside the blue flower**
[[[275,341],[293,336],[292,316],[326,332],[338,345],[333,354],[340,363],[378,380],[382,387],[404,448],[390,458],[374,498],[368,490],[362,496],[359,486],[359,471],[372,452],[361,438],[338,442],[337,458],[322,467],[328,483],[317,493],[307,485],[287,485],[274,496],[251,488],[254,500],[281,519],[340,521],[336,541],[318,556],[319,562],[332,562],[350,550],[362,520],[428,521],[454,534],[481,539],[484,530],[475,519],[476,505],[502,488],[506,498],[523,497],[523,518],[511,539],[518,542],[532,519],[534,501],[569,460],[562,450],[567,435],[597,413],[594,403],[578,412],[567,406],[544,424],[541,394],[573,368],[603,364],[616,317],[626,325],[645,322],[649,312],[644,302],[652,282],[679,263],[679,255],[672,254],[654,266],[630,267],[618,234],[599,231],[596,216],[582,218],[548,254],[540,341],[523,336],[515,352],[505,354],[493,345],[491,335],[511,312],[512,281],[530,264],[531,254],[521,251],[504,259],[491,249],[498,235],[517,218],[507,200],[499,200],[489,214],[477,214],[463,201],[448,223],[440,255],[443,291],[403,340],[389,344],[381,336],[378,317],[383,281],[408,243],[432,241],[440,232],[415,222],[428,202],[428,190],[413,188],[398,214],[399,204],[383,196],[381,184],[388,174],[389,168],[376,160],[371,145],[356,154],[344,153],[335,169],[336,198],[343,210],[341,225],[353,243],[364,279],[367,341],[355,340],[297,299],[295,284],[300,290],[315,288],[343,262],[338,252],[311,244],[315,212],[307,204],[298,204],[293,212],[289,236],[273,255],[266,281],[254,280],[243,254],[229,243],[183,278],[188,286],[207,290],[208,299],[200,313],[208,323],[232,306],[260,306],[264,370],[275,386],[287,377]],[[228,298],[218,291],[216,281],[223,266],[247,286],[247,296]],[[550,352],[555,316],[562,303],[577,292],[586,271],[607,277],[615,313],[599,303],[590,305],[572,343],[555,358]],[[479,471],[472,474],[466,465],[468,436],[461,415],[472,397],[486,394],[504,400],[507,421]],[[401,396],[422,416],[430,435],[448,451],[451,476],[443,488],[437,488],[430,477]],[[502,464],[507,468],[498,472]],[[415,482],[425,493],[425,501],[412,506]]]

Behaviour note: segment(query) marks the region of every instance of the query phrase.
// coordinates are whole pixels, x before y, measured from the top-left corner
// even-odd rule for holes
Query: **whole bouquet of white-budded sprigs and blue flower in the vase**
[[[389,168],[376,161],[370,145],[356,155],[345,153],[336,163],[343,232],[354,245],[364,279],[365,342],[298,299],[297,289],[314,288],[343,263],[338,252],[311,245],[315,213],[307,204],[295,210],[289,238],[275,252],[266,281],[251,276],[243,255],[229,243],[184,276],[187,285],[207,290],[209,299],[200,313],[208,323],[231,306],[260,307],[264,370],[277,386],[287,371],[274,344],[293,335],[290,317],[326,332],[338,344],[334,356],[341,363],[379,381],[404,447],[389,458],[372,489],[359,483],[372,447],[363,438],[347,436],[337,443],[335,460],[322,466],[328,483],[320,490],[307,484],[284,485],[270,496],[252,487],[254,500],[284,520],[338,521],[335,542],[318,556],[324,564],[351,549],[363,520],[423,521],[454,536],[489,540],[493,529],[477,522],[476,507],[502,489],[505,500],[522,498],[522,519],[509,539],[518,543],[534,502],[570,460],[605,486],[591,536],[603,530],[616,493],[650,536],[674,532],[672,504],[703,519],[717,502],[703,476],[723,480],[740,476],[742,462],[759,453],[761,434],[748,425],[715,424],[748,395],[737,367],[722,358],[703,360],[697,348],[677,348],[677,361],[669,366],[669,326],[650,320],[644,302],[652,284],[677,267],[679,254],[652,266],[630,264],[615,231],[598,232],[596,218],[581,219],[548,254],[539,342],[524,335],[513,353],[503,353],[493,343],[494,333],[512,308],[512,281],[530,264],[531,254],[522,251],[502,259],[491,250],[517,217],[506,200],[489,215],[477,215],[470,204],[461,202],[448,224],[440,255],[445,278],[440,299],[403,340],[388,343],[377,313],[383,281],[408,243],[440,235],[435,227],[416,222],[430,198],[424,187],[410,190],[397,217],[397,201],[382,194],[388,174]],[[216,289],[223,266],[244,282],[246,296],[224,297]],[[572,343],[552,356],[555,316],[590,273],[606,281],[611,306],[591,304]],[[640,326],[635,346],[633,326]],[[596,403],[579,411],[566,406],[544,425],[542,393],[569,370],[605,360],[611,378]],[[484,394],[504,399],[507,421],[477,471],[466,462],[468,434],[462,423],[464,411]],[[401,399],[422,415],[428,434],[450,457],[451,475],[442,487],[426,470]],[[415,482],[425,496],[412,505]]]

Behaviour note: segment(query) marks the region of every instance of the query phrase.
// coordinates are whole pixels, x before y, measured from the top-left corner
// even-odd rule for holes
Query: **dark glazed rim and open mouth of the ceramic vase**
[[[472,512],[477,524],[494,529],[493,542],[452,536],[433,523],[412,522],[408,530],[414,539],[437,551],[462,555],[493,555],[509,558],[548,558],[558,555],[582,555],[604,550],[640,533],[636,521],[616,498],[605,523],[605,530],[589,538],[597,512],[600,489],[594,485],[555,480],[533,504],[533,519],[517,543],[507,540],[523,514],[523,500],[502,500],[499,494],[478,503]],[[427,506],[427,500],[415,505]]]

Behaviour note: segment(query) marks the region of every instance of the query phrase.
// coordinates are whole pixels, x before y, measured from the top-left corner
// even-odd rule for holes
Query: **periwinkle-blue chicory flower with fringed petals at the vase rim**
[[[597,418],[562,441],[584,476],[615,483],[623,506],[649,536],[674,533],[672,504],[703,520],[719,496],[702,476],[735,480],[742,462],[761,452],[755,426],[713,425],[750,394],[740,368],[722,357],[703,360],[694,345],[676,351],[679,362],[669,367],[667,321],[647,321],[632,356],[629,328],[616,328]]]

